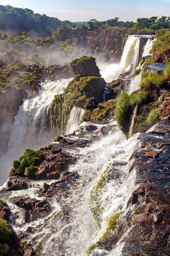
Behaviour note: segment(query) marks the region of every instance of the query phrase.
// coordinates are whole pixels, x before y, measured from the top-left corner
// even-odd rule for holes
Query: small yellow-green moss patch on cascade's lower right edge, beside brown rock
[[[116,213],[115,215],[111,216],[108,220],[108,227],[104,232],[103,236],[99,239],[99,242],[103,242],[111,236],[112,231],[116,230],[116,224],[119,219],[120,214]]]

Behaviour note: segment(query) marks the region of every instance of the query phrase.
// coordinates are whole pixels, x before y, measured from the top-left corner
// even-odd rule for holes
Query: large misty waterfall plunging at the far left
[[[20,106],[15,116],[8,150],[0,157],[1,185],[7,179],[12,161],[18,159],[25,148],[37,150],[39,147],[53,142],[53,131],[46,129],[50,103],[54,99],[54,95],[63,92],[69,81],[71,79],[43,83],[39,86],[39,94],[33,99],[24,100]]]

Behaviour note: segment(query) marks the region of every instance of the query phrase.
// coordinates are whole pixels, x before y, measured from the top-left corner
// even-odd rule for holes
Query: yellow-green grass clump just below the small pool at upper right
[[[142,74],[142,80],[140,82],[141,88],[155,88],[160,89],[160,87],[164,84],[165,80],[162,76],[160,76],[155,71],[148,71]]]

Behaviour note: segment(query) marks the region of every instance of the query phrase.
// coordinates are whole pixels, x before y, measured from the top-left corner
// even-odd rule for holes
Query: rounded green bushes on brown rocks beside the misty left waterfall
[[[44,156],[41,151],[24,150],[23,155],[18,160],[13,161],[13,168],[10,170],[9,176],[17,173],[18,175],[25,175],[34,179],[37,166],[41,162],[42,157]]]

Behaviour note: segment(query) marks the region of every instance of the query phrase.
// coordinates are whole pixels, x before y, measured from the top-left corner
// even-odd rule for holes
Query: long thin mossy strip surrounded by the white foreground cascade
[[[107,176],[105,174],[108,171],[110,165],[111,165],[111,163],[107,166],[106,170],[100,176],[100,179],[97,181],[96,185],[90,191],[90,203],[89,203],[90,211],[91,211],[98,227],[100,227],[101,213],[102,213],[102,207],[101,207],[101,204],[99,201],[100,190],[106,184]]]

